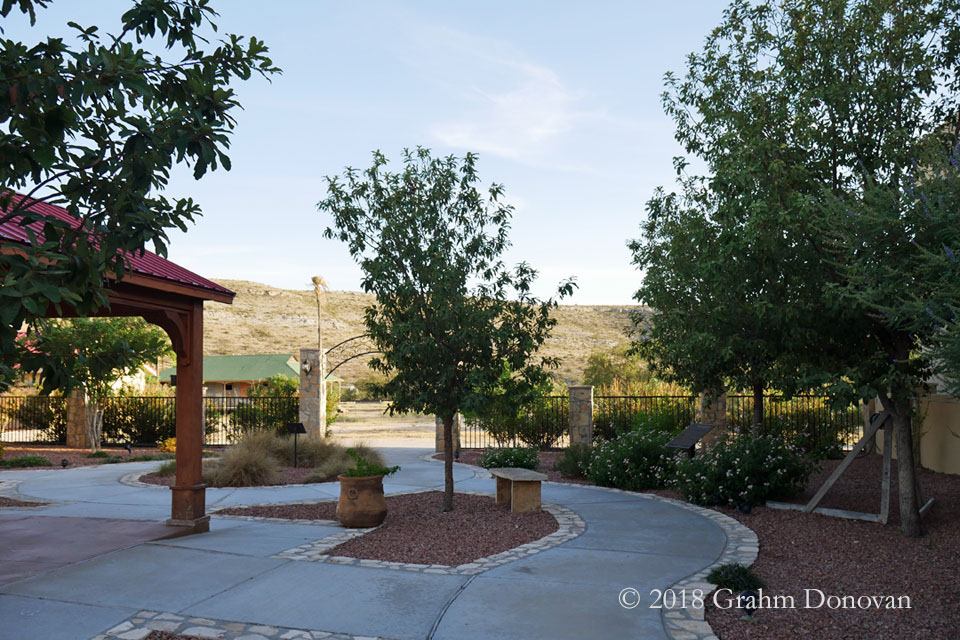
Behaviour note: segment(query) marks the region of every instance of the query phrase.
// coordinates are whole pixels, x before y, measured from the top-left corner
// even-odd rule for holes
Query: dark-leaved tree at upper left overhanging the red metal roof
[[[49,4],[5,1],[0,16],[17,7],[33,25]],[[256,38],[210,44],[215,16],[209,0],[140,0],[116,34],[71,22],[75,44],[0,38],[0,222],[32,225],[28,246],[0,251],[0,390],[15,377],[21,327],[62,306],[108,306],[105,287],[123,278],[127,255],[152,243],[165,256],[166,230],[200,215],[192,199],[162,193],[175,164],[198,179],[230,168],[232,86],[278,69]],[[29,208],[38,202],[76,223]],[[55,360],[32,360],[56,386],[69,382]]]

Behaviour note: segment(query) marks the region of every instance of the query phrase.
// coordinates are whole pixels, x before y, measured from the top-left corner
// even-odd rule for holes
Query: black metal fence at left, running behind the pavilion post
[[[203,399],[204,442],[226,445],[245,431],[284,431],[296,422],[294,397]],[[103,401],[104,444],[155,444],[176,436],[174,397],[113,397]],[[66,442],[67,400],[50,396],[0,396],[0,440],[9,443]]]

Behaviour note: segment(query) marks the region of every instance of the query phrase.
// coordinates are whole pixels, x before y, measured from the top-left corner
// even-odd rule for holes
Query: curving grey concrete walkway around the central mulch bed
[[[427,450],[381,450],[389,464],[402,465],[384,483],[388,494],[442,488],[441,465],[422,459]],[[169,490],[119,481],[154,466],[5,472],[0,480],[7,495],[18,483],[18,497],[57,504],[3,512],[162,521]],[[457,490],[493,493],[482,470],[457,465],[455,476]],[[214,510],[335,499],[338,491],[336,483],[208,489],[207,504]],[[250,640],[655,639],[671,637],[666,629],[672,637],[709,637],[705,623],[694,624],[696,612],[685,631],[685,619],[671,622],[662,614],[672,612],[650,608],[651,590],[702,576],[721,557],[744,550],[743,540],[740,547],[729,543],[723,516],[646,495],[556,483],[544,484],[543,500],[572,510],[586,530],[475,575],[275,557],[343,530],[215,517],[210,533],[137,544],[0,587],[0,639],[137,640],[151,628]],[[621,606],[625,588],[636,589],[635,608]]]

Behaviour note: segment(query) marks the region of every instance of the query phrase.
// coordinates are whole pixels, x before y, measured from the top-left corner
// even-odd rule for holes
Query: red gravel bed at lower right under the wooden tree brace
[[[821,506],[855,511],[880,509],[882,458],[856,460],[827,493]],[[811,477],[805,502],[839,464],[821,465]],[[924,536],[900,535],[896,462],[890,524],[846,520],[769,508],[750,514],[722,509],[760,538],[753,571],[769,595],[793,596],[796,609],[766,609],[756,620],[710,606],[707,621],[720,638],[907,638],[960,637],[960,477],[920,470],[924,498],[936,502],[923,518]],[[911,609],[803,608],[804,589],[836,596],[910,597]],[[811,604],[820,597],[811,591]],[[904,603],[905,604],[905,603]]]

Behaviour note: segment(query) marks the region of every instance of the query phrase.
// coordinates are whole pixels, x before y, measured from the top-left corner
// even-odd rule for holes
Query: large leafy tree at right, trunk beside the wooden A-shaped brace
[[[928,162],[933,140],[956,135],[958,55],[955,0],[738,0],[684,80],[668,77],[678,138],[707,161],[713,195],[776,232],[781,271],[811,302],[799,308],[815,322],[800,326],[817,348],[795,352],[807,379],[830,381],[840,398],[880,394],[893,415],[901,528],[910,536],[920,521],[909,398],[929,368],[924,345],[948,331],[885,313],[885,294],[929,274],[902,246],[912,232],[880,221],[902,223],[905,176]],[[758,109],[775,115],[764,135],[743,117]],[[758,193],[764,175],[776,188]],[[757,195],[762,203],[777,196],[779,206],[757,210]],[[879,224],[860,224],[870,216]],[[868,265],[882,266],[882,282],[867,276]],[[864,277],[870,291],[861,290]]]

